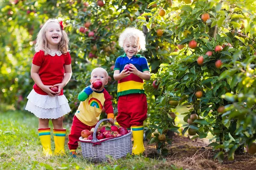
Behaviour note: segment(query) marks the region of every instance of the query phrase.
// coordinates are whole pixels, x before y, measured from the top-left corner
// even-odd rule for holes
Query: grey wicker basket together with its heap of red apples
[[[114,125],[99,128],[107,120],[102,119],[94,129],[81,132],[82,155],[89,161],[108,161],[108,156],[119,159],[132,152],[131,131]]]

